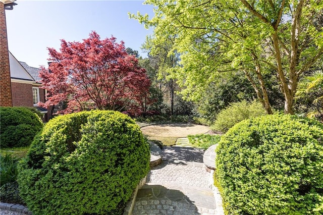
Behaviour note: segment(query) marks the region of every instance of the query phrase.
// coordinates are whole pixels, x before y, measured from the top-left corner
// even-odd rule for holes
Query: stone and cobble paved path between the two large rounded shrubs
[[[163,163],[151,168],[132,214],[221,214],[203,154],[202,149],[187,146],[164,147]]]

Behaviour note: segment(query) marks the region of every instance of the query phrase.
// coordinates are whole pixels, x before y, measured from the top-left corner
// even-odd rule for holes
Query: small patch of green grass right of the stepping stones
[[[193,147],[203,148],[204,150],[206,150],[211,145],[217,144],[220,141],[221,136],[218,134],[197,134],[188,135],[187,138]]]

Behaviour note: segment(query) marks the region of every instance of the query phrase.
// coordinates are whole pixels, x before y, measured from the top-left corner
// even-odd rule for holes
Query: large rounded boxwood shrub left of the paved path
[[[34,214],[120,214],[149,157],[139,126],[124,114],[58,116],[18,165],[20,194]]]

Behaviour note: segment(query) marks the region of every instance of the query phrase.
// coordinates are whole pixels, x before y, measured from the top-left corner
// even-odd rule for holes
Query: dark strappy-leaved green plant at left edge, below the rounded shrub
[[[1,186],[15,182],[17,179],[18,158],[11,154],[0,154],[0,184]]]

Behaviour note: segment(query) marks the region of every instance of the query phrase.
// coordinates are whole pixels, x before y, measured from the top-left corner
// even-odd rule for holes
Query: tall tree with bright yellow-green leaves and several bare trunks
[[[272,113],[264,75],[275,72],[284,112],[293,113],[300,76],[323,54],[321,0],[146,0],[155,16],[130,15],[154,28],[157,47],[170,36],[170,52],[181,53],[170,70],[182,92],[198,99],[221,72],[243,71],[268,114]],[[253,75],[254,74],[254,75]]]

